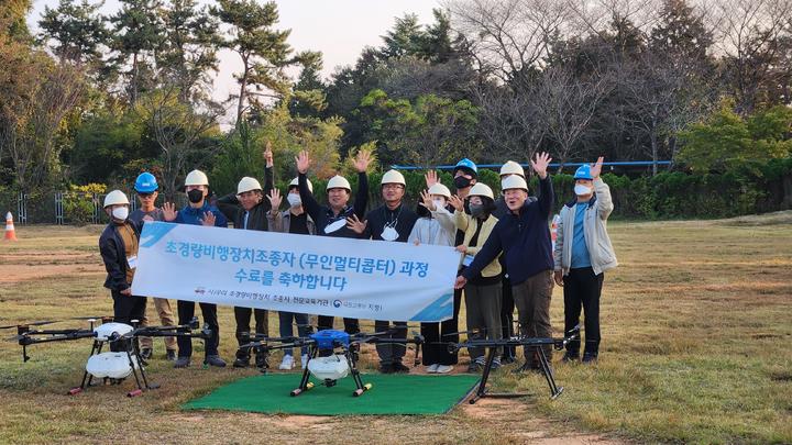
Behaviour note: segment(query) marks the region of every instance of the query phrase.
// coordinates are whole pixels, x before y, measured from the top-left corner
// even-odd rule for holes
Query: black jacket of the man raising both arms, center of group
[[[341,219],[345,220],[353,214],[356,214],[358,218],[363,221],[363,219],[365,218],[366,205],[369,205],[369,177],[365,173],[358,174],[358,194],[355,194],[354,203],[352,204],[352,207],[346,205],[345,208],[343,208],[343,210],[341,210],[338,215],[336,215],[332,209],[330,209],[329,207],[321,205],[319,202],[317,202],[316,198],[314,198],[314,194],[310,192],[310,190],[308,190],[308,178],[304,174],[299,174],[298,178],[302,208],[314,220],[314,223],[316,224],[317,235],[337,236],[342,238],[360,237],[360,235],[354,233],[354,231],[348,229],[346,225],[331,233],[324,233],[324,227],[327,227],[328,224],[331,224]]]

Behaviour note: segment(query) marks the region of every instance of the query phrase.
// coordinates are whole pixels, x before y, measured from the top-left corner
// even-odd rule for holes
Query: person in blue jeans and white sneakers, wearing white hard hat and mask
[[[308,190],[314,193],[314,185],[310,180],[308,181]],[[274,220],[280,221],[280,232],[292,233],[295,235],[316,235],[316,224],[314,220],[302,208],[302,200],[299,197],[299,178],[292,179],[286,191],[286,201],[288,202],[288,209],[280,213],[268,213],[267,218],[271,218],[273,223]],[[310,333],[310,320],[308,314],[278,311],[278,325],[280,337],[294,336],[293,325],[297,326],[297,335],[306,337]],[[283,349],[284,356],[280,360],[278,369],[288,370],[294,368],[294,351]],[[308,347],[302,346],[300,349],[300,364],[305,369],[308,364]]]

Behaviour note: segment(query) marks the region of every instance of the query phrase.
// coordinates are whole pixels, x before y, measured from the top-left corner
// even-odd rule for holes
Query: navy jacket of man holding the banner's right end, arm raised
[[[539,199],[526,201],[519,215],[512,212],[498,220],[473,263],[462,272],[466,279],[479,275],[503,252],[512,285],[553,269],[548,219],[553,204],[550,175],[539,180]]]

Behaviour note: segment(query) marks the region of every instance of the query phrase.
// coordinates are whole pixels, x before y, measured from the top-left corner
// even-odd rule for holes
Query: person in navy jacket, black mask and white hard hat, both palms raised
[[[226,215],[218,208],[209,204],[207,197],[209,196],[209,178],[201,170],[193,170],[185,178],[185,192],[187,193],[188,204],[179,210],[170,202],[163,204],[163,214],[165,221],[178,224],[205,225],[216,227],[228,227]],[[210,366],[224,367],[226,361],[220,358],[218,346],[220,345],[220,324],[217,316],[217,304],[198,303],[201,309],[204,322],[211,331],[211,336],[206,341],[206,357],[204,363]],[[179,324],[187,324],[195,315],[195,302],[177,300],[176,310],[178,312]],[[176,368],[186,368],[190,366],[190,357],[193,356],[193,342],[189,337],[177,337],[178,358],[174,363]]]

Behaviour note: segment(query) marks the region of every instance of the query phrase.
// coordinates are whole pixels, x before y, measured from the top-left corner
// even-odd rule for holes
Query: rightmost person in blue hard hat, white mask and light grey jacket
[[[602,178],[603,157],[594,165],[584,164],[574,174],[575,199],[559,213],[558,236],[553,248],[553,278],[564,291],[564,330],[569,332],[584,316],[583,363],[600,355],[600,294],[605,270],[618,265],[607,219],[613,212],[610,189]],[[566,345],[564,361],[580,358],[580,341]]]

